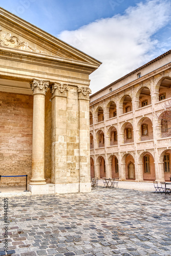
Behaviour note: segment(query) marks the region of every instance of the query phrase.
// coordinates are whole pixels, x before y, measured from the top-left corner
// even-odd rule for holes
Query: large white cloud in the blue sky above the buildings
[[[58,35],[63,41],[102,61],[91,76],[92,92],[140,67],[167,49],[152,36],[170,22],[170,1],[152,0],[129,7],[123,15],[96,20]]]

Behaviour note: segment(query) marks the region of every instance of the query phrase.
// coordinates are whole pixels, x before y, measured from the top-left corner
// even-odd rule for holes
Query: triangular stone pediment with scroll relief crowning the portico
[[[0,8],[0,47],[76,60],[99,66],[100,61]]]

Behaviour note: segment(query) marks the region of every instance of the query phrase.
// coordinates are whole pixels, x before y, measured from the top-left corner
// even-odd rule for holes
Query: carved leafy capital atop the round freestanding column
[[[31,90],[33,91],[33,95],[34,94],[46,95],[46,92],[49,88],[49,82],[33,79],[30,83],[30,87],[31,87]]]

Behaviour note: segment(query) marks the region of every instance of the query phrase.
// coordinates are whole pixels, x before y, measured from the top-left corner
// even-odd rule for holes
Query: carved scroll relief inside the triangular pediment
[[[31,52],[37,52],[37,53],[44,53],[42,51],[38,51],[36,48],[32,48],[28,42],[20,41],[18,37],[11,36],[11,33],[8,33],[6,31],[2,32],[2,29],[0,28],[0,46],[8,46],[12,48],[21,48],[22,50],[31,51]]]

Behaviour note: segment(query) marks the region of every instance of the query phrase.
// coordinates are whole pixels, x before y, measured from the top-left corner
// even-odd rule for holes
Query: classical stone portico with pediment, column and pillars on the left
[[[90,191],[89,75],[101,62],[2,8],[0,25],[3,175],[28,175],[32,194]]]

